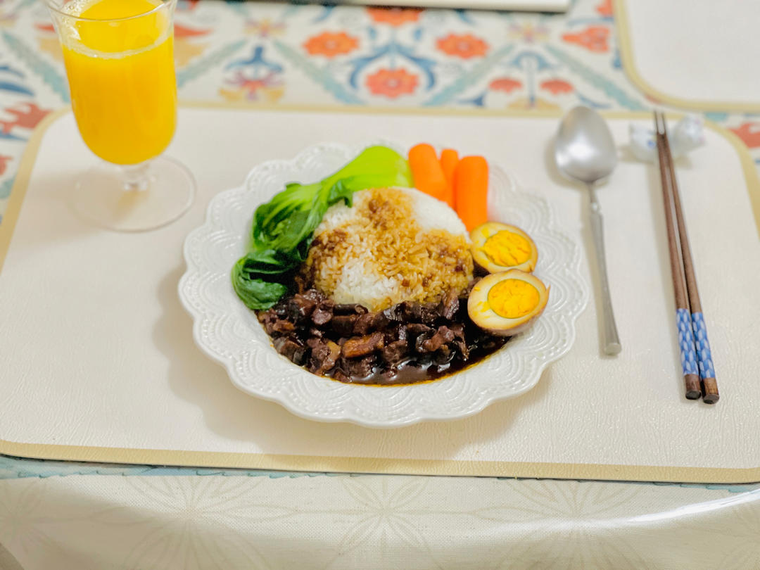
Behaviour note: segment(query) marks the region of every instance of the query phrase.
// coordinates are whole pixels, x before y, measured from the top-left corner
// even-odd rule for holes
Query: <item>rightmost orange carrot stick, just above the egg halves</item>
[[[454,206],[467,231],[488,221],[488,163],[464,157],[454,170]]]

